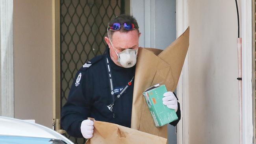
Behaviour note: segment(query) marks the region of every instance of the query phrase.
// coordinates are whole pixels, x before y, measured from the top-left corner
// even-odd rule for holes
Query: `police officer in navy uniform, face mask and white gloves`
[[[77,72],[67,103],[61,111],[61,124],[73,137],[93,137],[93,121],[111,122],[131,127],[135,64],[139,48],[137,21],[120,15],[109,22],[106,52]],[[163,104],[175,109],[180,120],[180,107],[173,92],[166,92]]]

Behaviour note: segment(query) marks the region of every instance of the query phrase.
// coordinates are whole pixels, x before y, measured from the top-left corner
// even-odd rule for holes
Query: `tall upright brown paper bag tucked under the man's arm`
[[[160,82],[168,91],[177,87],[189,47],[189,27],[165,50],[139,48],[137,57],[131,128],[167,138],[167,125],[156,127],[143,92]]]

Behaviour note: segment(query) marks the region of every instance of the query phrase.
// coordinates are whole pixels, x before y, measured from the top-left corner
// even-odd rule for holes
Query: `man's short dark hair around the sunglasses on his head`
[[[138,33],[139,33],[139,26],[138,26],[137,20],[132,15],[125,15],[125,14],[119,15],[119,16],[113,18],[108,23],[108,26],[110,26],[110,25],[112,25],[114,23],[119,23],[119,24],[122,25],[124,22],[133,23],[135,25],[135,30],[137,30]],[[130,30],[125,30],[124,27],[121,26],[119,31],[121,31],[121,32],[128,32]],[[113,35],[114,32],[115,31],[108,30],[109,39],[112,39],[112,35]]]

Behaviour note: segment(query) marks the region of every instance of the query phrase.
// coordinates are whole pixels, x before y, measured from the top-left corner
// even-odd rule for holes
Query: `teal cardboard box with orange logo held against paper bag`
[[[164,126],[178,119],[174,109],[163,105],[163,94],[167,92],[165,85],[154,85],[143,92],[149,111],[156,127]]]

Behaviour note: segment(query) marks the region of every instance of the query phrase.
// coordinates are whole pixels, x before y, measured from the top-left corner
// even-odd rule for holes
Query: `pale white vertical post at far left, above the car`
[[[0,0],[0,58],[0,116],[13,118],[13,0]]]

